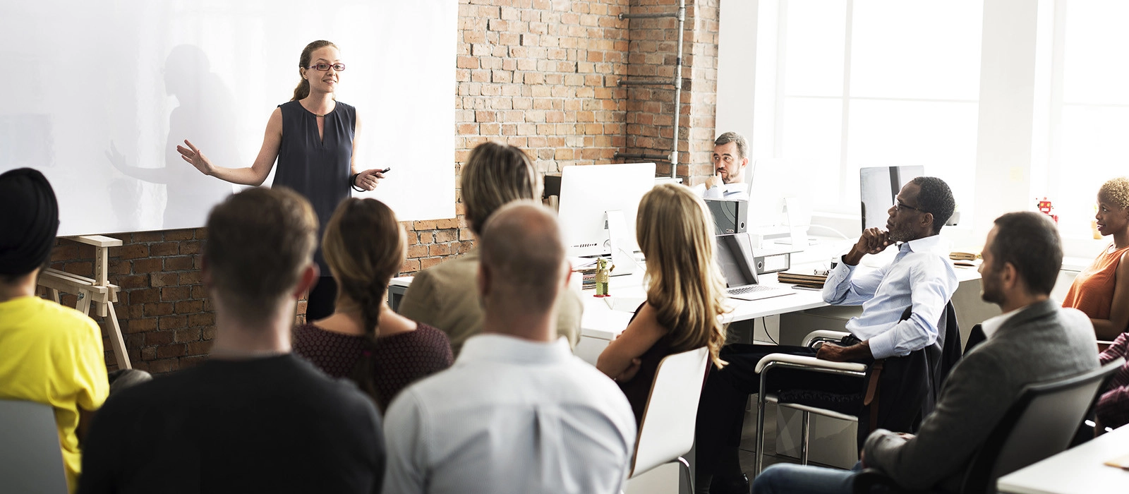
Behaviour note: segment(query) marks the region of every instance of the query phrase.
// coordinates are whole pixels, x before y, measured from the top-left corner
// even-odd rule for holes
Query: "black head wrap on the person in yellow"
[[[38,170],[0,175],[0,274],[21,275],[43,265],[59,232],[59,203]]]

